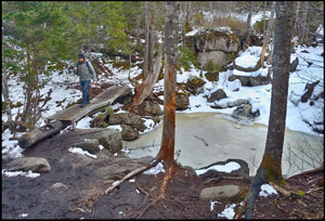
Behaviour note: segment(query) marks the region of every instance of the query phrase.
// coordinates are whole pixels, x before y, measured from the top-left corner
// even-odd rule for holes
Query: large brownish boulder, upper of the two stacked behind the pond
[[[199,52],[223,51],[237,52],[239,40],[236,35],[229,30],[207,29],[197,32],[195,36],[195,48]]]

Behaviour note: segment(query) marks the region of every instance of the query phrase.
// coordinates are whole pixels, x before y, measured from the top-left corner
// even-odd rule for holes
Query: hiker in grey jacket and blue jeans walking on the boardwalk
[[[83,54],[78,54],[79,62],[75,66],[75,74],[79,76],[80,86],[82,88],[82,102],[80,107],[84,107],[87,104],[90,104],[90,81],[93,80],[93,84],[96,83],[96,74],[90,63],[86,61]]]

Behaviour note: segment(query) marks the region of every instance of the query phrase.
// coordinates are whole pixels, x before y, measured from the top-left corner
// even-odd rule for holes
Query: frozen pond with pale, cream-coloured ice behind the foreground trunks
[[[250,176],[262,159],[268,127],[243,125],[216,113],[177,113],[176,159],[194,169],[229,158],[244,159]],[[125,142],[131,157],[156,156],[160,147],[162,125],[140,135],[135,141]],[[315,168],[323,161],[324,140],[291,130],[286,130],[283,174],[292,176]]]

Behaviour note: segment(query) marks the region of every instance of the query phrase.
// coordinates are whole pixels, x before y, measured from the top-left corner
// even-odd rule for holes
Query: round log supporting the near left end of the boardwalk
[[[55,133],[58,133],[61,130],[69,126],[68,121],[54,121],[50,122],[47,126],[41,128],[36,128],[18,139],[18,144],[22,148],[27,148]]]

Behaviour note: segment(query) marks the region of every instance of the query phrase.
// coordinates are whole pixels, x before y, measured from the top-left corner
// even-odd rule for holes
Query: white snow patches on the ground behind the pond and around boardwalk
[[[308,51],[309,53],[303,53],[303,51]],[[247,57],[248,55],[251,57],[258,57],[261,52],[261,47],[250,47],[245,52],[240,52],[237,60],[243,60],[243,57]],[[310,122],[321,121],[323,119],[324,112],[324,100],[320,99],[313,106],[308,103],[299,102],[301,95],[304,92],[304,87],[307,82],[314,82],[320,80],[321,82],[315,88],[313,94],[318,94],[324,90],[324,68],[323,68],[323,56],[321,53],[324,52],[323,46],[318,46],[317,48],[307,48],[307,47],[298,47],[296,48],[296,53],[291,54],[291,61],[296,57],[299,58],[299,65],[295,73],[290,74],[289,78],[289,91],[288,91],[288,104],[287,104],[287,117],[286,117],[286,127],[294,131],[301,131],[306,133],[310,133],[313,135],[317,135],[308,123],[304,121],[308,120]],[[96,56],[101,56],[100,53],[95,54]],[[112,64],[112,61],[105,60],[107,66],[115,75],[109,77],[104,77],[103,75],[99,76],[98,84],[102,82],[110,82],[118,84],[127,84],[132,88],[131,83],[128,80],[128,76],[133,78],[141,73],[141,68],[135,65],[130,70],[115,68]],[[255,60],[244,60],[249,66],[249,62],[253,62]],[[307,61],[313,62],[311,66],[307,63]],[[268,72],[266,68],[260,68],[256,73],[251,73],[250,75],[265,75]],[[130,72],[130,73],[129,73]],[[178,82],[186,82],[188,78],[199,77],[200,70],[196,69],[194,66],[188,72],[182,69],[177,74]],[[205,72],[203,73],[205,76]],[[256,119],[255,122],[266,125],[269,123],[269,115],[270,115],[270,102],[271,102],[271,84],[259,86],[259,87],[242,87],[238,81],[227,81],[227,77],[236,74],[240,75],[239,70],[227,70],[220,73],[218,82],[210,82],[205,77],[204,80],[207,83],[204,86],[204,92],[198,95],[190,96],[190,108],[183,110],[183,113],[223,113],[223,114],[232,114],[236,107],[231,108],[222,108],[216,109],[210,107],[211,103],[207,102],[207,95],[222,88],[227,98],[220,100],[218,104],[222,102],[236,101],[238,99],[247,99],[249,103],[252,105],[252,109],[259,109],[260,116]],[[38,127],[44,123],[44,117],[50,116],[58,110],[66,108],[67,104],[77,102],[81,98],[81,92],[79,90],[74,89],[73,87],[67,88],[68,83],[73,83],[75,86],[78,84],[78,77],[69,72],[63,72],[60,74],[58,72],[53,72],[51,76],[41,75],[40,80],[49,80],[43,89],[41,89],[42,94],[47,94],[50,90],[51,100],[44,107],[44,112],[42,114],[42,119],[37,123]],[[12,77],[9,80],[10,84],[10,96],[14,103],[24,102],[23,87],[18,81],[17,77]],[[234,88],[239,88],[238,91],[233,91]],[[164,79],[159,80],[155,87],[154,91],[164,90]],[[57,102],[62,102],[61,105]],[[119,107],[119,104],[115,106],[115,108]],[[22,107],[21,107],[22,108]],[[16,116],[18,108],[12,108],[13,118]],[[2,115],[2,120],[6,120],[6,115]],[[89,128],[90,117],[87,117],[80,120],[77,125],[77,128]],[[152,125],[148,132],[153,129],[153,122],[146,120],[147,125]],[[120,130],[120,127],[110,126],[112,128]],[[21,133],[17,133],[21,135]],[[9,139],[12,135],[9,130],[5,130],[2,133],[2,155],[9,156],[11,158],[21,157],[23,150],[17,145],[17,141],[10,141]]]

